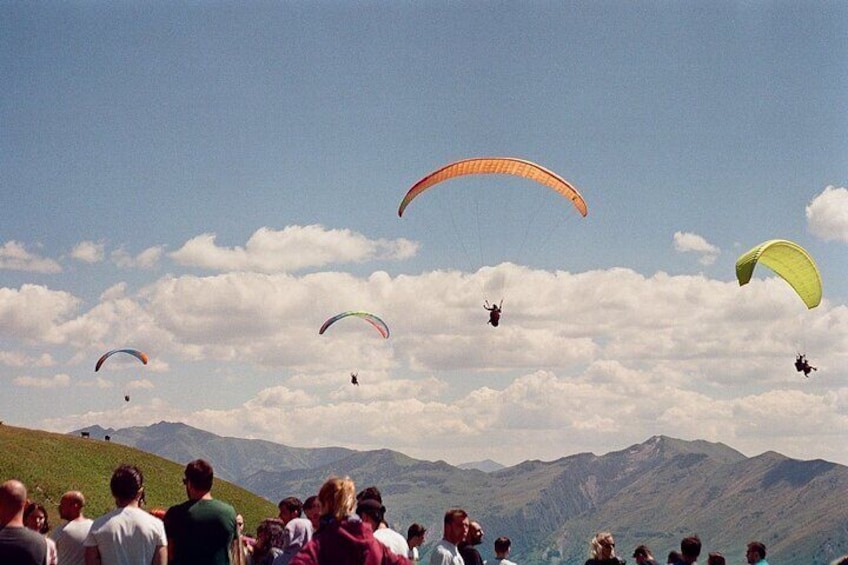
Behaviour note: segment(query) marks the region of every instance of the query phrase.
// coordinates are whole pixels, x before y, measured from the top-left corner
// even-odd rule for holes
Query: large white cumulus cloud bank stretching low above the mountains
[[[130,378],[160,389],[178,375],[185,390],[217,396],[157,401],[134,390],[114,410],[45,421],[66,431],[167,419],[287,445],[390,448],[454,463],[554,459],[657,434],[844,460],[848,389],[832,383],[845,374],[848,308],[823,304],[800,317],[785,287],[779,277],[740,288],[702,275],[509,263],[473,273],[241,271],[167,276],[141,290],[116,285],[80,316],[55,318],[65,348],[79,350],[78,366],[90,371],[107,343],[131,343],[151,362],[110,367],[122,394],[147,386]],[[486,296],[505,298],[498,328],[486,324]],[[346,309],[380,315],[390,338],[359,318],[318,334]],[[819,367],[809,379],[793,367],[799,347]],[[349,382],[354,371],[358,387]],[[821,429],[830,434],[824,445],[814,441]]]

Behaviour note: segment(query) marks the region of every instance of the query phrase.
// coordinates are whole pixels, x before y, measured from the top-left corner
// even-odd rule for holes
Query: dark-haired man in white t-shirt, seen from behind
[[[168,538],[162,520],[141,509],[144,475],[135,465],[121,465],[109,488],[115,510],[100,516],[85,538],[87,565],[165,565]]]

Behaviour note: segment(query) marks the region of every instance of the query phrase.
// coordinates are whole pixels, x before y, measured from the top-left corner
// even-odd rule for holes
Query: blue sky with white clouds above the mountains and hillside
[[[4,3],[0,417],[848,463],[846,24],[839,2]],[[397,217],[477,156],[556,171],[588,216],[488,176]],[[819,308],[766,270],[738,287],[771,238],[816,259]],[[348,309],[392,337],[317,335]],[[93,372],[126,345],[150,364]]]

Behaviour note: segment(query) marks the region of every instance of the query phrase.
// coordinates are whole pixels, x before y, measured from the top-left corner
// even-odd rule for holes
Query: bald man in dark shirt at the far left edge
[[[47,544],[38,533],[24,526],[27,491],[12,479],[0,485],[0,563],[46,565]]]

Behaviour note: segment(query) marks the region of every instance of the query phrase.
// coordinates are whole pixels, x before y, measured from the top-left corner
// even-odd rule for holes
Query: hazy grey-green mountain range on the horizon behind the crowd
[[[331,475],[348,475],[358,488],[377,485],[395,529],[428,527],[425,553],[454,506],[482,524],[484,558],[494,557],[492,542],[506,535],[522,565],[582,564],[589,538],[602,530],[613,532],[618,555],[631,563],[642,543],[665,562],[692,533],[703,541],[702,561],[721,551],[728,562],[743,563],[754,539],[780,565],[827,564],[848,553],[848,467],[774,452],[748,458],[705,441],[656,436],[603,456],[460,468],[390,450],[293,448],[167,422],[80,431],[180,463],[206,458],[219,476],[272,502],[303,499]]]

